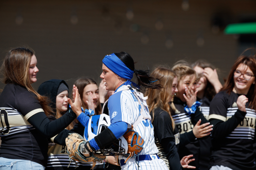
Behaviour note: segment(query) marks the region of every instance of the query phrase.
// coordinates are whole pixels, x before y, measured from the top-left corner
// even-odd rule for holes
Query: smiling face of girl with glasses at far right
[[[238,67],[236,68],[236,71],[239,71],[241,75],[239,77],[233,76],[234,78],[233,91],[238,94],[246,95],[249,91],[251,84],[255,82],[255,77],[253,77],[254,74],[252,73],[251,69],[247,65],[242,63],[238,65]],[[249,80],[245,80],[244,75],[242,74],[247,74],[252,76],[250,77]],[[248,79],[247,76],[245,78]]]

